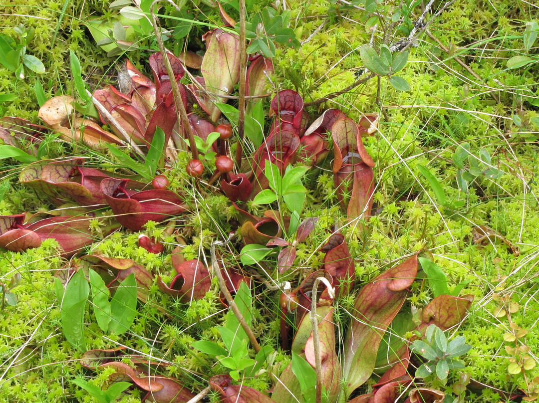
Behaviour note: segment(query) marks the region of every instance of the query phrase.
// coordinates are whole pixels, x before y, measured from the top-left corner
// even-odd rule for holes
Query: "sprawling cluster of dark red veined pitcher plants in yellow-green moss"
[[[266,129],[261,102],[255,101],[267,95],[268,75],[273,67],[270,60],[257,55],[249,60],[246,71],[247,115],[245,128],[239,133],[238,110],[227,103],[240,80],[238,36],[217,29],[204,39],[206,53],[189,66],[191,70],[184,67],[183,62],[190,60],[185,54],[182,60],[171,53],[151,55],[153,80],[129,61],[123,64],[118,72],[118,88],[107,86],[92,94],[101,122],[79,117],[75,100],[65,95],[43,105],[39,115],[45,126],[16,118],[0,121],[0,137],[5,144],[25,153],[26,161],[38,156],[40,143],[52,131],[66,141],[82,142],[95,152],[107,152],[134,171],[122,175],[89,168],[84,156],[24,165],[20,183],[58,208],[49,213],[21,212],[0,217],[0,246],[21,252],[52,238],[58,242],[61,255],[76,256],[66,270],[57,274],[62,287],[75,281],[77,273],[90,281],[88,273],[92,269],[114,293],[120,282],[134,274],[141,304],[147,302],[153,284],[161,292],[190,303],[210,290],[213,276],[224,279],[222,302],[232,309],[229,315],[235,315],[220,328],[225,329],[221,332],[225,348],[218,344],[197,345],[232,369],[208,380],[223,402],[395,401],[414,380],[412,363],[418,366],[418,358],[410,354],[413,340],[401,337],[391,345],[382,363],[377,362],[377,353],[393,318],[410,296],[418,276],[418,255],[405,256],[360,289],[344,341],[337,343],[335,302],[355,292],[356,282],[355,259],[340,232],[327,234],[320,249],[325,253],[321,267],[313,268],[303,278],[294,277],[294,287],[282,289],[280,348],[291,352],[291,364],[275,377],[270,392],[242,385],[240,374],[256,376],[272,351],[260,347],[252,334],[250,307],[239,309],[240,303],[231,300],[230,295],[242,288],[244,297],[250,295],[247,266],[257,268],[265,260],[265,267],[274,265],[275,273],[294,268],[296,245],[317,225],[316,217],[302,217],[307,189],[301,178],[308,170],[332,161],[334,186],[344,216],[353,225],[368,225],[375,163],[362,138],[375,135],[378,115],[364,114],[356,122],[340,110],[327,109],[312,120],[303,110],[301,96],[287,89],[277,92],[271,100],[272,122]],[[190,71],[196,68],[200,75],[193,77]],[[23,161],[23,154],[19,161]],[[181,157],[186,154],[189,157],[185,164]],[[172,186],[168,169],[182,161],[185,183]],[[141,232],[148,221],[160,223],[194,213],[193,192],[185,191],[190,187],[202,196],[221,192],[230,199],[239,217],[234,223],[236,235],[243,242],[243,253],[238,251],[241,265],[225,267],[217,258],[211,264],[202,259],[185,260],[178,246],[171,253],[174,275],[167,283],[160,273],[134,260],[84,254],[87,247],[121,228]],[[250,203],[267,204],[269,209],[255,217],[247,211]],[[109,214],[110,210],[113,214]],[[143,232],[139,246],[151,253],[165,253],[164,245]],[[216,243],[212,245],[212,258],[223,253],[218,247]],[[441,330],[451,328],[464,320],[470,304],[468,296],[438,295],[414,312],[409,330],[421,339],[429,325]],[[62,309],[68,308],[63,305]],[[254,359],[249,358],[247,342],[242,337],[249,340],[256,353]],[[80,333],[66,334],[66,339],[84,350]],[[241,349],[245,353],[236,360]],[[126,357],[132,365],[122,361]],[[176,379],[158,375],[158,369],[166,364],[128,354],[125,349],[86,351],[81,363],[90,369],[113,367],[110,385],[127,381],[126,387],[140,388],[149,401],[195,401],[198,393]],[[370,393],[358,395],[355,391],[367,382],[375,367],[382,377],[371,385]],[[443,400],[443,393],[436,390],[411,387],[409,392],[410,402]]]

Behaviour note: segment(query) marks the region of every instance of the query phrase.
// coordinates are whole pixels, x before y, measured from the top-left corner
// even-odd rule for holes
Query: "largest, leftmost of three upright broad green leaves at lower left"
[[[67,283],[61,301],[60,320],[66,340],[80,351],[86,351],[84,339],[84,313],[90,293],[88,281],[79,270]]]

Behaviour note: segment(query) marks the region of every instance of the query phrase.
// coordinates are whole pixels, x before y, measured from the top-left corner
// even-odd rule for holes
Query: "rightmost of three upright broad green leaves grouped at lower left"
[[[129,330],[136,315],[136,294],[135,274],[131,273],[120,283],[110,301],[110,333],[119,336]]]

